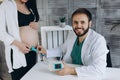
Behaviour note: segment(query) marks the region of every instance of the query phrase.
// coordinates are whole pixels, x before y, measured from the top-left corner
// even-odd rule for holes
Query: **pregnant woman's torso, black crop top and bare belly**
[[[18,10],[18,24],[20,38],[22,42],[28,44],[29,46],[37,46],[38,44],[38,31],[32,29],[29,24],[34,21],[34,14],[30,10],[25,12]]]

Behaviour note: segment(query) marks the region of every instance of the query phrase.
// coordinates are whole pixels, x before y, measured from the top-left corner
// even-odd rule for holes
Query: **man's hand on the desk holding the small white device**
[[[74,67],[68,66],[63,62],[64,68],[62,70],[55,71],[58,75],[76,75],[76,71]]]

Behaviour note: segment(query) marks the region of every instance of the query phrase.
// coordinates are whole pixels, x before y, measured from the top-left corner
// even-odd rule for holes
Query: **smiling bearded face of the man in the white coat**
[[[86,14],[76,14],[72,18],[72,26],[75,34],[78,37],[84,36],[91,26],[91,21],[88,20]]]

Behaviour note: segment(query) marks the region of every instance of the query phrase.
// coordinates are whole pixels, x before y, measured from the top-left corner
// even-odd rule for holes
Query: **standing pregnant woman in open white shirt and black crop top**
[[[4,0],[0,5],[0,40],[12,80],[20,80],[36,63],[38,46],[36,0]]]

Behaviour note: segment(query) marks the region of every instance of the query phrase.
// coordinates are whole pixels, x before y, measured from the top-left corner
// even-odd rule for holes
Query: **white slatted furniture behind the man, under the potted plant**
[[[41,45],[46,49],[56,48],[66,40],[68,32],[72,27],[66,25],[64,28],[59,26],[41,27]]]

